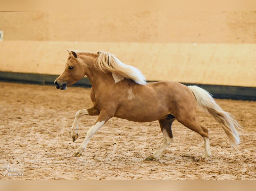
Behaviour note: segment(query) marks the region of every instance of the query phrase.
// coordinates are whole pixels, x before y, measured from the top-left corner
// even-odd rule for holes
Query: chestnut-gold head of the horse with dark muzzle
[[[68,51],[69,57],[65,65],[65,70],[54,81],[55,87],[60,90],[66,90],[68,86],[75,84],[81,80],[85,74],[85,64],[79,55],[74,51]]]

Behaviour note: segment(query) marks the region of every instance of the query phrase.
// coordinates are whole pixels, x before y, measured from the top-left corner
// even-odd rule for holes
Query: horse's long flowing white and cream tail
[[[198,105],[213,115],[215,120],[221,124],[229,138],[231,146],[238,145],[240,142],[240,137],[237,129],[241,129],[241,126],[233,118],[234,116],[226,111],[223,111],[213,99],[211,94],[206,90],[197,86],[188,86],[188,88],[190,88],[195,95]]]

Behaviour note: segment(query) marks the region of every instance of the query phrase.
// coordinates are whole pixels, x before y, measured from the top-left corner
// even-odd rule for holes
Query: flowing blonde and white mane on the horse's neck
[[[99,51],[98,54],[99,56],[95,59],[94,64],[102,72],[112,72],[113,76],[119,75],[131,79],[137,84],[146,84],[146,79],[139,69],[122,63],[110,53]]]

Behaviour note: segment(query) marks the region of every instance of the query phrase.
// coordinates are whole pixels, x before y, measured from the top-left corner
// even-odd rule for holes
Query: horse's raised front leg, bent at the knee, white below
[[[78,129],[78,122],[79,122],[80,117],[82,117],[84,115],[99,115],[99,114],[100,114],[100,112],[97,110],[97,108],[95,106],[92,106],[88,109],[79,110],[76,113],[74,122],[71,127],[71,136],[72,136],[73,142],[75,142],[75,140],[77,140],[77,138],[78,138],[77,129]]]

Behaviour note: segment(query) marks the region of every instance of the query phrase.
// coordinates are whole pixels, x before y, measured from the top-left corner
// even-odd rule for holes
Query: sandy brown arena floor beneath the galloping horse
[[[210,161],[200,161],[203,138],[175,121],[174,141],[147,162],[162,144],[157,121],[112,118],[81,157],[72,157],[96,119],[82,117],[73,143],[71,125],[77,110],[92,106],[90,89],[0,83],[0,96],[0,180],[256,180],[253,101],[217,100],[244,126],[239,146],[232,148],[214,118],[198,110],[198,121],[210,131]],[[10,176],[15,170],[20,176]]]

